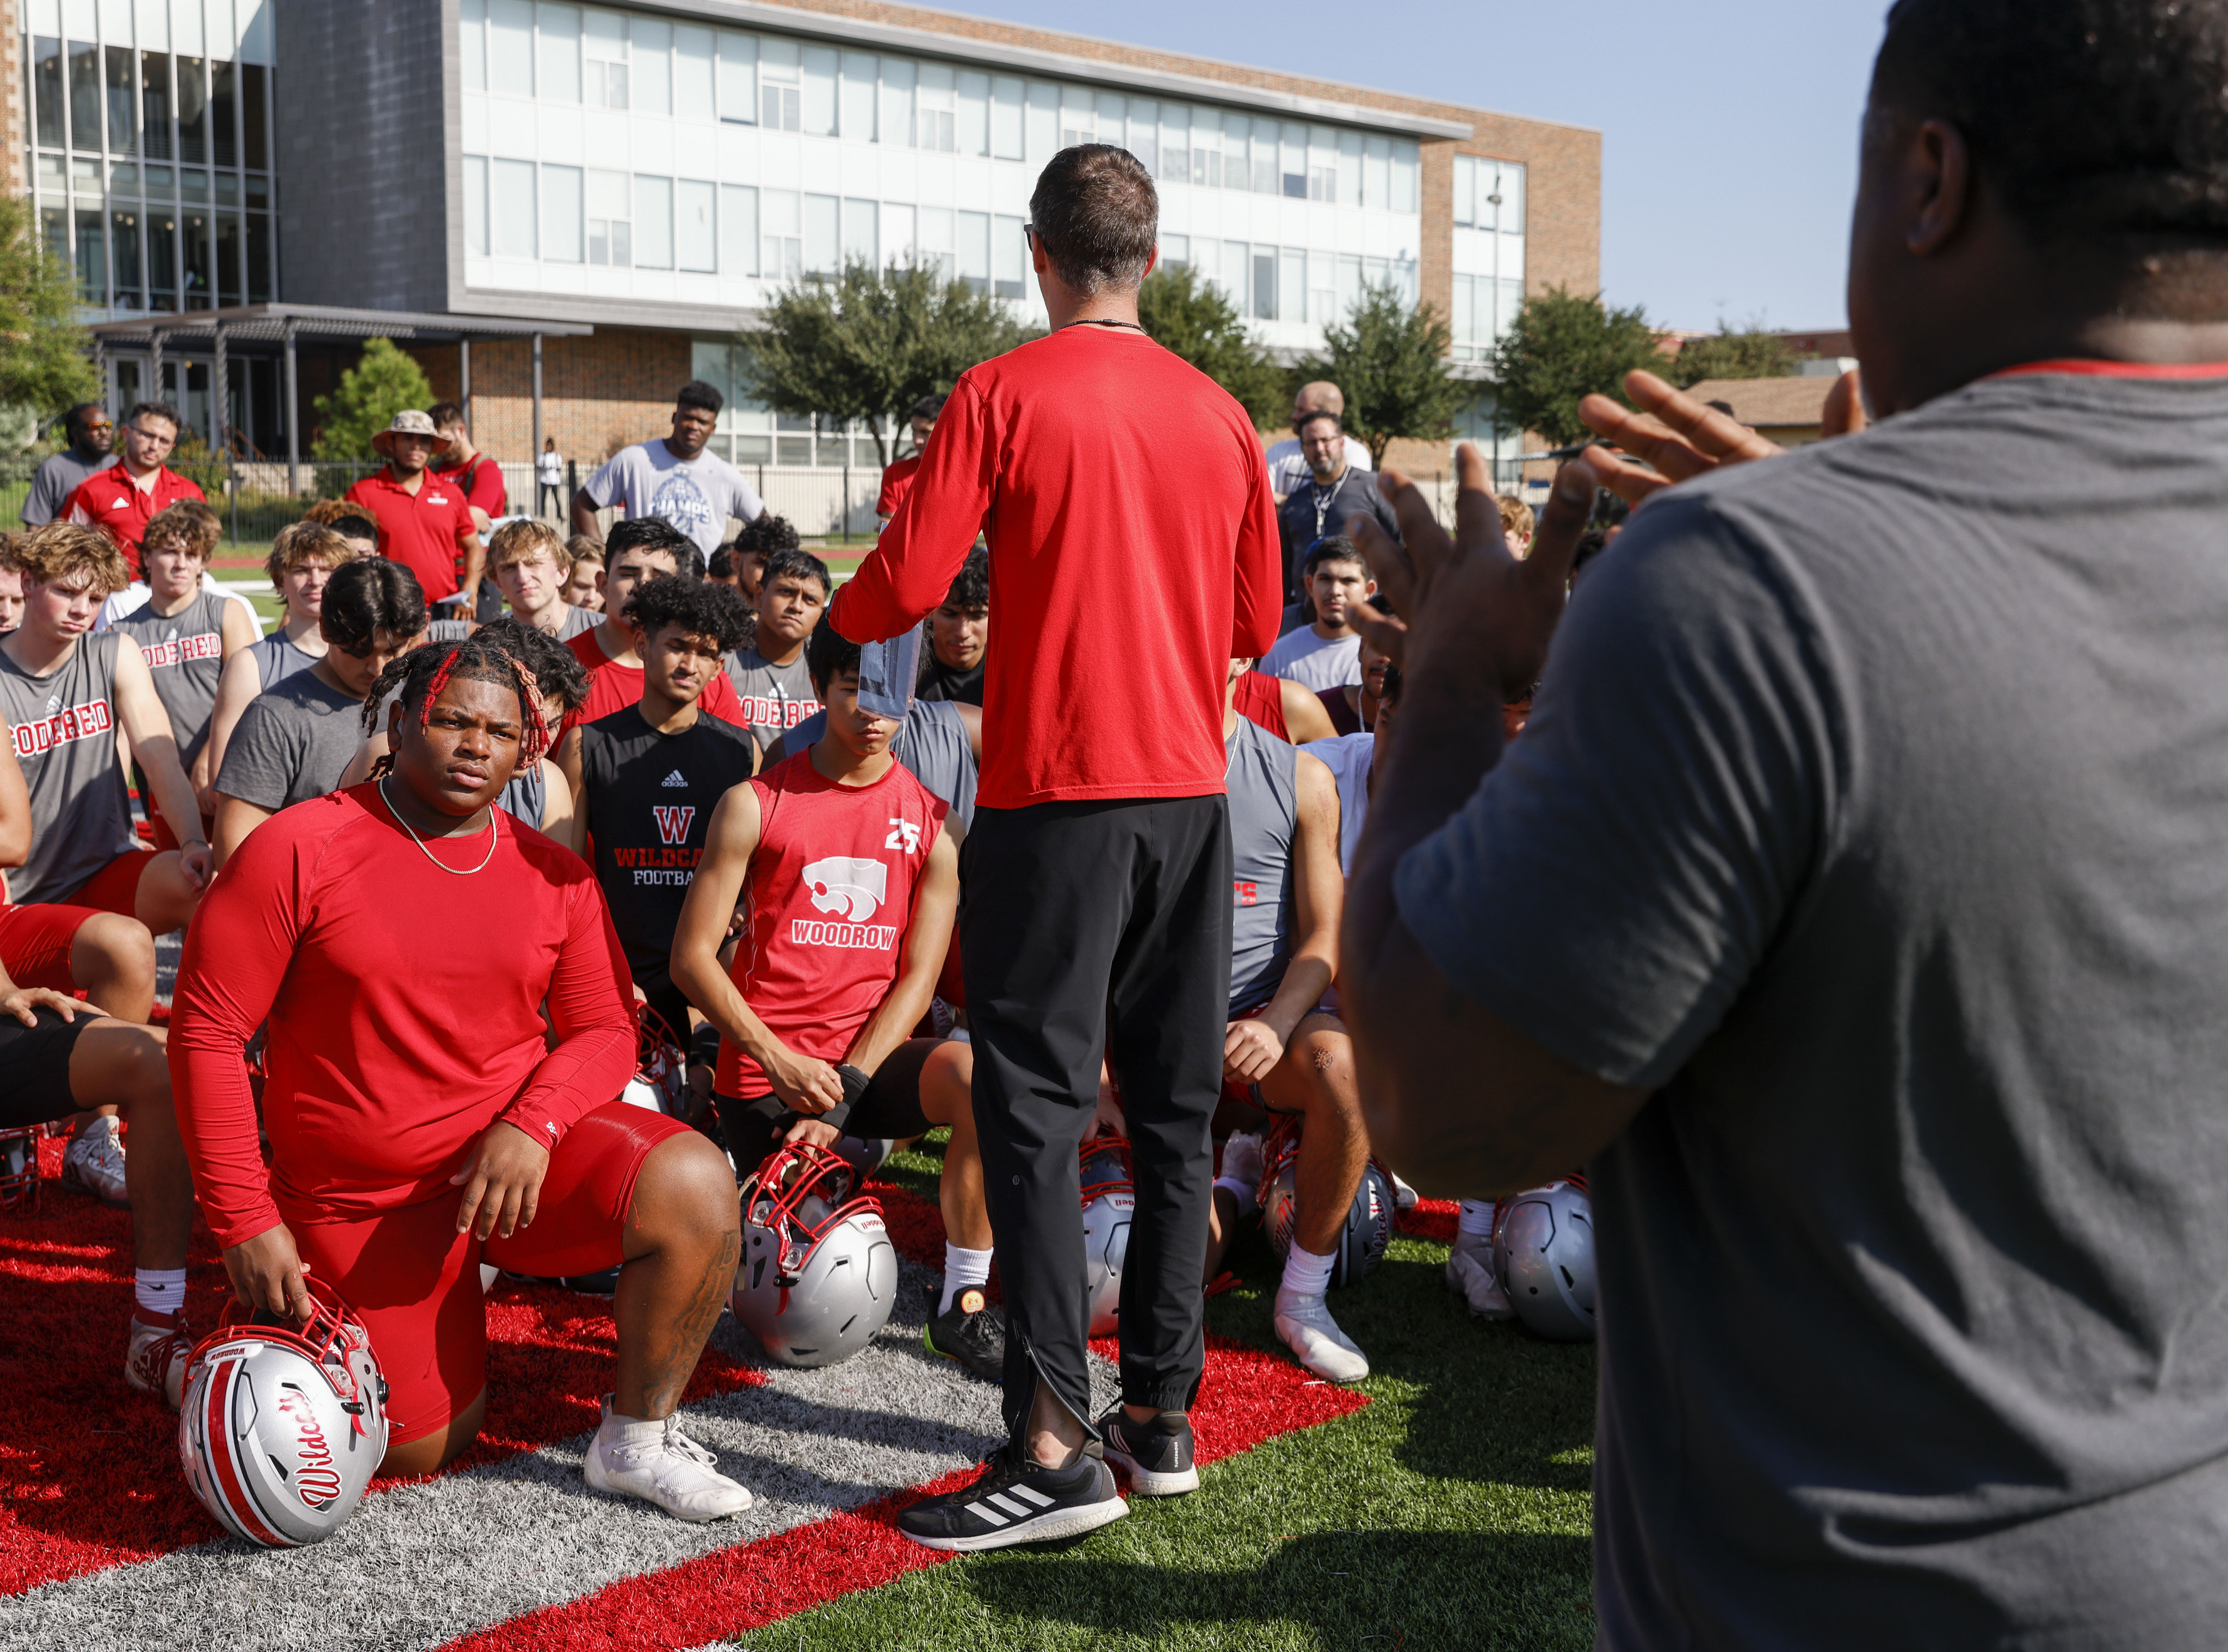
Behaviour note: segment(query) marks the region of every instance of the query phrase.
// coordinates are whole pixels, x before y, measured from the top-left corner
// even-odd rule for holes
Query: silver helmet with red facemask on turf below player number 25
[[[742,1265],[729,1307],[782,1365],[836,1365],[889,1322],[898,1251],[858,1171],[789,1142],[742,1184]]]

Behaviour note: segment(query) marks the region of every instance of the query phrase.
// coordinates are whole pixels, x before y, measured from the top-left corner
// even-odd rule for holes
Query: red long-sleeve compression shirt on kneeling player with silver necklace
[[[334,1216],[455,1196],[448,1178],[495,1120],[555,1147],[626,1086],[631,975],[595,873],[510,815],[497,833],[488,866],[457,877],[374,786],[350,786],[272,815],[225,862],[169,1022],[178,1129],[218,1245],[278,1225],[272,1187]],[[468,868],[488,842],[430,850]],[[459,895],[475,917],[428,928]],[[243,1060],[265,1017],[267,1178]]]

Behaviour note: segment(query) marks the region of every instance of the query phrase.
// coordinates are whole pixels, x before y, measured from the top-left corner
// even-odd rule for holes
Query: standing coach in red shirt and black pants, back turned
[[[1029,198],[1052,334],[965,372],[913,488],[829,623],[898,637],[989,539],[1000,621],[962,853],[976,1127],[1005,1282],[1012,1443],[900,1527],[938,1550],[1085,1532],[1134,1489],[1196,1485],[1212,1149],[1230,977],[1223,679],[1277,637],[1281,566],[1252,421],[1145,336],[1159,196],[1125,149],[1052,158]],[[1141,488],[1170,452],[1185,488]],[[1152,699],[1101,670],[1105,614],[1165,590]],[[1092,1427],[1076,1147],[1101,1049],[1127,1104],[1136,1218],[1123,1400]],[[1105,1443],[1101,1445],[1101,1436]]]

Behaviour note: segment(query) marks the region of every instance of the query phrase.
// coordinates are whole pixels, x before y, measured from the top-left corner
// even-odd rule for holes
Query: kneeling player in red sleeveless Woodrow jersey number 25
[[[793,1140],[951,1127],[945,1289],[927,1343],[998,1380],[1005,1331],[976,1289],[991,1233],[974,1051],[909,1038],[951,942],[958,848],[942,799],[889,755],[896,721],[860,710],[858,643],[822,626],[807,648],[827,735],[720,799],[673,935],[673,982],[720,1029],[713,1100],[735,1164]],[[751,922],[729,975],[720,946],[744,895]]]

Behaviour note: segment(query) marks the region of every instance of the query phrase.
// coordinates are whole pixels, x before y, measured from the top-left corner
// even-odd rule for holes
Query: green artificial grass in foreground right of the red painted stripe
[[[936,1196],[936,1149],[891,1180]],[[1335,1291],[1370,1405],[1134,1498],[1103,1532],[967,1556],[758,1630],[773,1648],[1589,1648],[1593,1347],[1484,1325],[1442,1282],[1446,1247],[1399,1236]],[[1279,1349],[1259,1231],[1208,1329]]]

